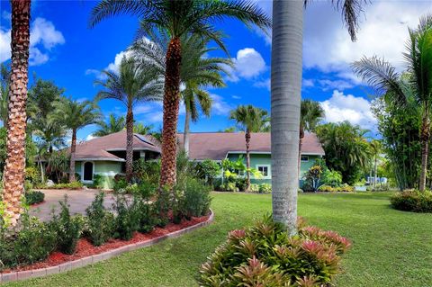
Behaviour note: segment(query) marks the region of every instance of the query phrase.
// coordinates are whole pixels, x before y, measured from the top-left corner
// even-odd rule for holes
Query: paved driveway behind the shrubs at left
[[[70,213],[85,214],[85,209],[94,201],[94,197],[99,191],[97,190],[41,190],[40,192],[45,193],[45,202],[37,205],[36,207],[31,207],[31,215],[39,217],[41,220],[49,220],[50,213],[53,208],[59,211],[59,204],[67,195],[67,203],[70,205]],[[107,209],[112,208],[112,202],[114,202],[111,193],[105,193],[104,206]]]

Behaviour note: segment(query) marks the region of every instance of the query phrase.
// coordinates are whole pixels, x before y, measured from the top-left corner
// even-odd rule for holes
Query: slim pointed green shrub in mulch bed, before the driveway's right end
[[[87,222],[85,233],[95,247],[103,245],[113,237],[114,216],[103,207],[105,193],[99,193],[94,202],[85,210]]]

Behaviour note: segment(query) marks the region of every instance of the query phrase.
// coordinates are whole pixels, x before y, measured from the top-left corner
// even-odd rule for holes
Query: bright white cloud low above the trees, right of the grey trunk
[[[326,113],[327,122],[349,121],[363,129],[376,129],[376,118],[371,111],[371,103],[365,98],[335,90],[329,100],[321,102],[321,106]]]

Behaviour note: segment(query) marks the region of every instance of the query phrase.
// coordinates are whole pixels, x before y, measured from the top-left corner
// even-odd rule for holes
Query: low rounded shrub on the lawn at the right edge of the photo
[[[432,212],[432,192],[406,190],[390,198],[392,207],[400,211]]]

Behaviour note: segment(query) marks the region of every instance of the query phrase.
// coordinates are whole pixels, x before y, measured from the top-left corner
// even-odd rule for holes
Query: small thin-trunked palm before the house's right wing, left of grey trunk
[[[247,188],[250,189],[250,133],[259,132],[266,128],[267,112],[253,105],[239,105],[236,110],[231,111],[229,118],[237,122],[239,130],[245,131],[246,139],[246,169]]]

